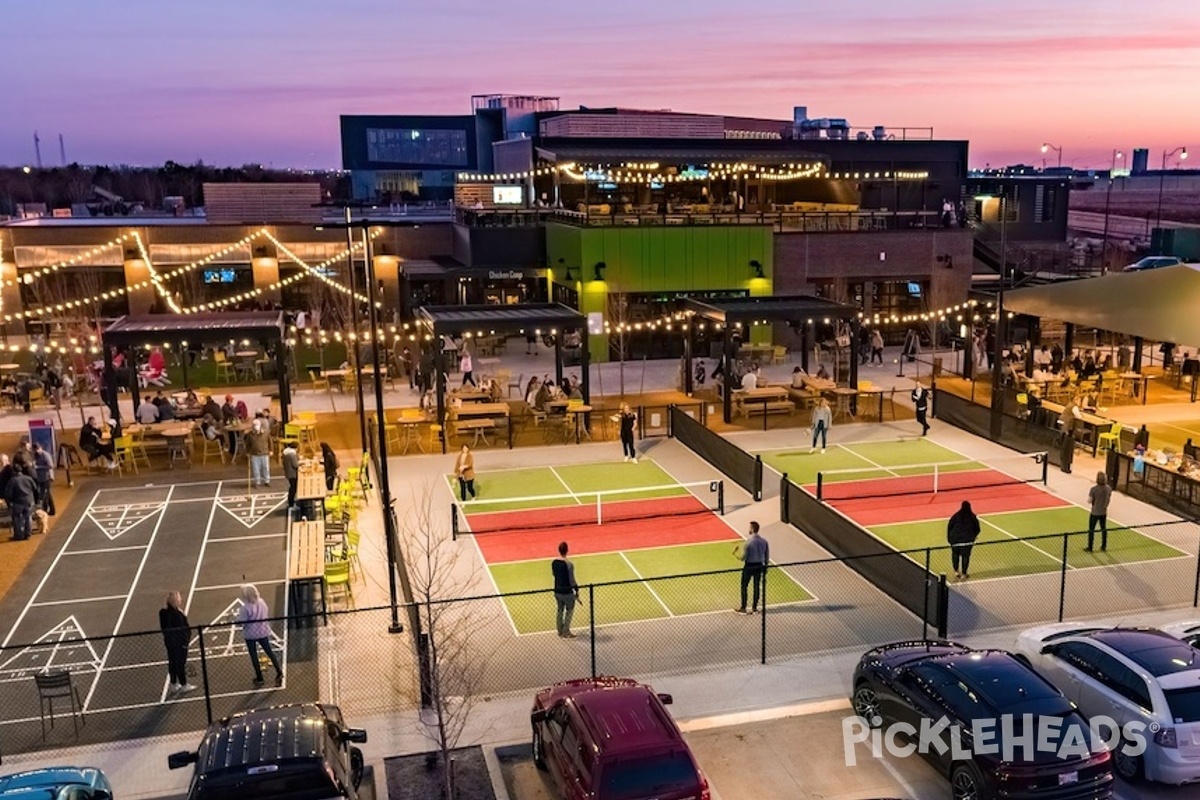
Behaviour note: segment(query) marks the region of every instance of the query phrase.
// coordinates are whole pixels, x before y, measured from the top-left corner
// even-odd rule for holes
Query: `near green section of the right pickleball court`
[[[1015,541],[1018,537],[1044,536],[1055,533],[1087,530],[1087,510],[1078,506],[1039,509],[1036,511],[1012,511],[979,517],[980,533],[971,553],[971,577],[1012,578],[1038,572],[1057,572],[1062,566],[1062,539],[1048,537],[1034,541]],[[929,519],[899,525],[876,525],[872,534],[898,551],[920,547],[941,547],[946,543],[946,521]],[[1152,561],[1183,555],[1182,552],[1151,539],[1134,529],[1122,528],[1109,521],[1109,548],[1100,552],[1099,530],[1096,531],[1097,551],[1084,551],[1086,536],[1072,536],[1067,546],[1067,567],[1079,570],[1091,566]],[[1000,542],[1000,543],[990,543]],[[908,553],[918,563],[924,563],[923,553]],[[942,549],[930,558],[934,572],[950,575],[950,553]]]

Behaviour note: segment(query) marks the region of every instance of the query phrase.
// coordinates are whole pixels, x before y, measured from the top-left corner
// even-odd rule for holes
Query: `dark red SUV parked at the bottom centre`
[[[554,684],[529,715],[534,763],[565,800],[710,800],[670,703],[626,678]]]

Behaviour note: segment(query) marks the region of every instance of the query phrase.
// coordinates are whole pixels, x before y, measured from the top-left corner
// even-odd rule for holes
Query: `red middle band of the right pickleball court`
[[[922,519],[949,519],[950,515],[962,506],[964,500],[971,503],[971,510],[977,515],[1058,509],[1070,505],[1028,483],[972,486],[943,489],[937,494],[833,500],[829,505],[859,525],[870,528]]]

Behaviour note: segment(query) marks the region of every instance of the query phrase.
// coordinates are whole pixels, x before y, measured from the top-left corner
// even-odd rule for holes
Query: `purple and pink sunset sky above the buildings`
[[[1182,0],[6,2],[0,164],[341,166],[338,114],[473,94],[934,127],[971,166],[1200,149]],[[1190,139],[1189,139],[1190,137]],[[1200,155],[1200,152],[1198,152]],[[1054,166],[1057,156],[1048,155]]]

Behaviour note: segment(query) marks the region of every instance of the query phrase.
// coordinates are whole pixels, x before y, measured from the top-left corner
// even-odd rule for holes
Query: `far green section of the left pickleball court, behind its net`
[[[455,476],[446,475],[446,481],[458,497]],[[588,504],[596,501],[596,492],[622,492],[619,497],[606,495],[608,499],[642,500],[678,497],[686,494],[688,489],[649,459],[636,464],[612,462],[476,471],[476,499],[469,511],[487,513]]]

